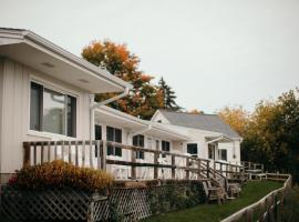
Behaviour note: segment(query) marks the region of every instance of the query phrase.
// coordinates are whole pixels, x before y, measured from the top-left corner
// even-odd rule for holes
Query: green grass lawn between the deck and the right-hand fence
[[[252,181],[243,186],[239,199],[227,201],[225,204],[202,204],[192,209],[151,216],[142,222],[213,222],[219,221],[236,211],[257,202],[262,196],[281,188],[282,183],[271,181]]]

